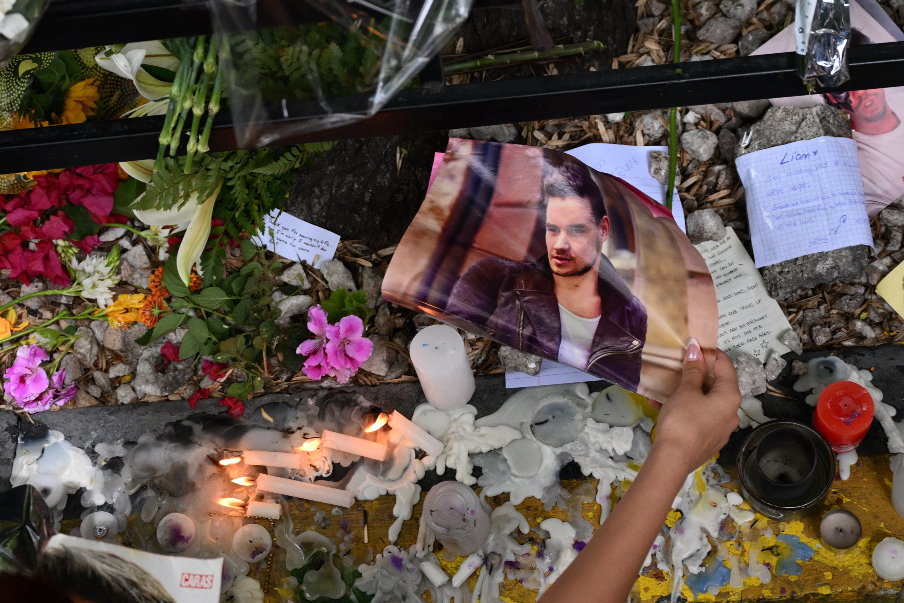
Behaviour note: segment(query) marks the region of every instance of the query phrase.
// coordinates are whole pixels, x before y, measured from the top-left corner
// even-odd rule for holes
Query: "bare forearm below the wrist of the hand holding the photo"
[[[624,603],[686,476],[675,451],[654,445],[634,483],[542,603]]]

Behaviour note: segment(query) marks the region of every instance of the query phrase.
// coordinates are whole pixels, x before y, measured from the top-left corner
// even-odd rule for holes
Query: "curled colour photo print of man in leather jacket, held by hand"
[[[536,146],[451,138],[382,294],[654,400],[690,337],[716,346],[710,272],[668,210]]]

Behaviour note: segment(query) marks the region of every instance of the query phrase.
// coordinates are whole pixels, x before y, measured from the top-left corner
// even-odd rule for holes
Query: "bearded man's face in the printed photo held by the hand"
[[[596,268],[609,219],[599,222],[583,197],[550,197],[546,203],[546,252],[552,273],[578,277]]]

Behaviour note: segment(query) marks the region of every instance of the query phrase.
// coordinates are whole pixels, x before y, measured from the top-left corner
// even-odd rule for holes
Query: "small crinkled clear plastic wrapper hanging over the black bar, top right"
[[[850,80],[851,7],[847,0],[798,0],[795,14],[797,75],[834,88]]]

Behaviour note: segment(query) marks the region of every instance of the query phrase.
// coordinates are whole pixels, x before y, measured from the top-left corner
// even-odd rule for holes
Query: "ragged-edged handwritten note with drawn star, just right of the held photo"
[[[743,353],[766,362],[769,351],[790,352],[778,336],[791,328],[778,302],[734,229],[722,240],[695,245],[710,269],[719,306],[719,348],[735,358]]]

